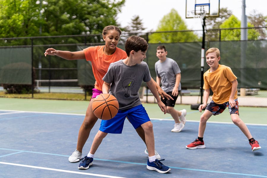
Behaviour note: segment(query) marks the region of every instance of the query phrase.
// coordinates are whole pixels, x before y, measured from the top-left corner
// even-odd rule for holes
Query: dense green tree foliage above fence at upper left
[[[38,3],[39,2],[39,3]],[[44,3],[45,2],[45,3]],[[1,0],[0,37],[99,34],[125,0]]]

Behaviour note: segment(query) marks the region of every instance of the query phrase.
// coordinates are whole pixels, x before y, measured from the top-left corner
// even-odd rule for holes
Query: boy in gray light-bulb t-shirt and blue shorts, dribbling
[[[155,156],[155,141],[153,124],[147,115],[139,99],[138,90],[142,81],[147,83],[148,88],[155,96],[158,106],[166,113],[166,106],[160,100],[157,88],[151,80],[151,75],[147,63],[143,62],[146,58],[148,44],[138,36],[131,36],[125,43],[127,58],[111,63],[107,74],[103,77],[103,93],[114,95],[119,102],[119,111],[110,120],[102,120],[98,133],[96,134],[90,152],[83,158],[79,167],[89,168],[93,163],[94,154],[108,133],[121,134],[123,123],[127,117],[134,128],[142,127],[145,133],[145,140],[148,149],[147,169],[160,173],[169,172],[171,169],[163,165],[161,160]],[[87,169],[88,169],[87,168]]]

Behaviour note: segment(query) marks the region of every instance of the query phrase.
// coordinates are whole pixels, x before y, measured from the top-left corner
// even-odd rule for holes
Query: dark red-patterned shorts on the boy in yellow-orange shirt
[[[234,107],[230,107],[229,102],[223,103],[223,104],[216,104],[214,101],[211,101],[208,106],[206,107],[207,110],[213,113],[213,115],[221,114],[226,107],[229,108],[230,115],[231,114],[237,114],[239,115],[238,111],[238,101],[235,99],[236,105]]]

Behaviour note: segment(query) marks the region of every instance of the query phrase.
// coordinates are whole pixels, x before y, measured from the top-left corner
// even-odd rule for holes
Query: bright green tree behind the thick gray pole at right
[[[251,23],[247,23],[247,27],[253,27]],[[231,15],[227,20],[225,20],[220,28],[241,28],[241,21],[236,18],[236,16]],[[258,39],[260,34],[255,29],[247,30],[247,39]],[[222,30],[221,40],[240,40],[241,39],[241,29],[229,29]]]

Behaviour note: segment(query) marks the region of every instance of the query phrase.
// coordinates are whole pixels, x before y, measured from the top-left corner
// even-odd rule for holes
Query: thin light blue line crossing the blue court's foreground
[[[0,158],[4,157],[4,156],[8,156],[8,155],[18,154],[18,153],[21,153],[21,152],[69,157],[69,155],[59,155],[59,154],[52,154],[52,153],[24,151],[24,150],[14,150],[14,149],[6,149],[6,148],[0,148],[0,150],[17,151],[15,153],[2,155],[2,156],[0,156]],[[94,158],[94,160],[109,161],[109,162],[116,162],[116,163],[126,163],[126,164],[135,164],[135,165],[147,165],[146,163],[135,163],[135,162],[128,162],[128,161],[107,160],[107,159],[98,159],[98,158]],[[212,171],[212,170],[205,170],[205,169],[191,169],[191,168],[181,168],[181,167],[173,167],[173,166],[169,166],[169,167],[172,168],[172,169],[182,169],[182,170],[189,170],[189,171],[202,171],[202,172],[211,172],[211,173],[218,173],[218,174],[232,174],[232,175],[240,175],[240,176],[266,177],[267,178],[267,176],[265,176],[265,175],[244,174],[244,173],[225,172],[225,171]]]

